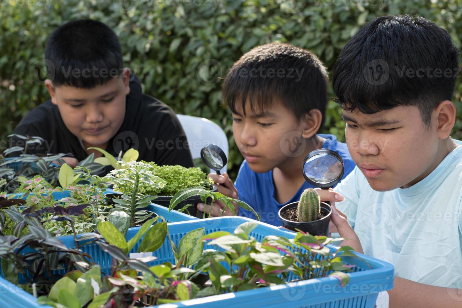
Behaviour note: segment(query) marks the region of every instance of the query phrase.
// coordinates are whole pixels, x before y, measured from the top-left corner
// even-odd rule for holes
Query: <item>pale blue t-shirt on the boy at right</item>
[[[432,173],[408,188],[373,190],[355,168],[334,189],[364,253],[422,284],[462,288],[462,141]],[[418,155],[418,153],[416,153]]]

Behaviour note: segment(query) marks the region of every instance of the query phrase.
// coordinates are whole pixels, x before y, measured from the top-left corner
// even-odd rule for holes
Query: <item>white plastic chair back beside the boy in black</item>
[[[226,157],[228,158],[228,138],[226,138],[225,132],[218,124],[205,118],[192,115],[176,116],[178,117],[178,120],[180,120],[181,126],[186,133],[189,150],[191,151],[193,159],[201,158],[201,149],[209,143],[218,145],[225,152]],[[220,172],[223,174],[227,172],[227,169],[228,164],[226,164]],[[210,169],[210,172],[215,171]]]

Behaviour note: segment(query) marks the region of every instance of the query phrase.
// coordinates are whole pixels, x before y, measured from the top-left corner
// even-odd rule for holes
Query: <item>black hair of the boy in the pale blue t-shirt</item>
[[[451,100],[458,72],[459,52],[446,30],[419,16],[384,16],[346,43],[332,84],[343,109],[416,106],[430,127],[435,108]]]

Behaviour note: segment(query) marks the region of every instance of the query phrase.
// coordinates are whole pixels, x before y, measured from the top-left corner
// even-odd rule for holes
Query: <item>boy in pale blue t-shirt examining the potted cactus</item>
[[[462,306],[462,142],[450,138],[459,72],[448,32],[409,15],[365,25],[334,67],[357,167],[334,189],[345,199],[331,232],[395,266],[390,307]]]

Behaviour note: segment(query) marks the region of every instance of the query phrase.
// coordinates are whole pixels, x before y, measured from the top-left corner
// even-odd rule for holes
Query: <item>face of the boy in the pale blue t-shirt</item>
[[[343,110],[343,118],[348,150],[374,190],[410,187],[436,167],[438,129],[426,127],[417,107]]]

